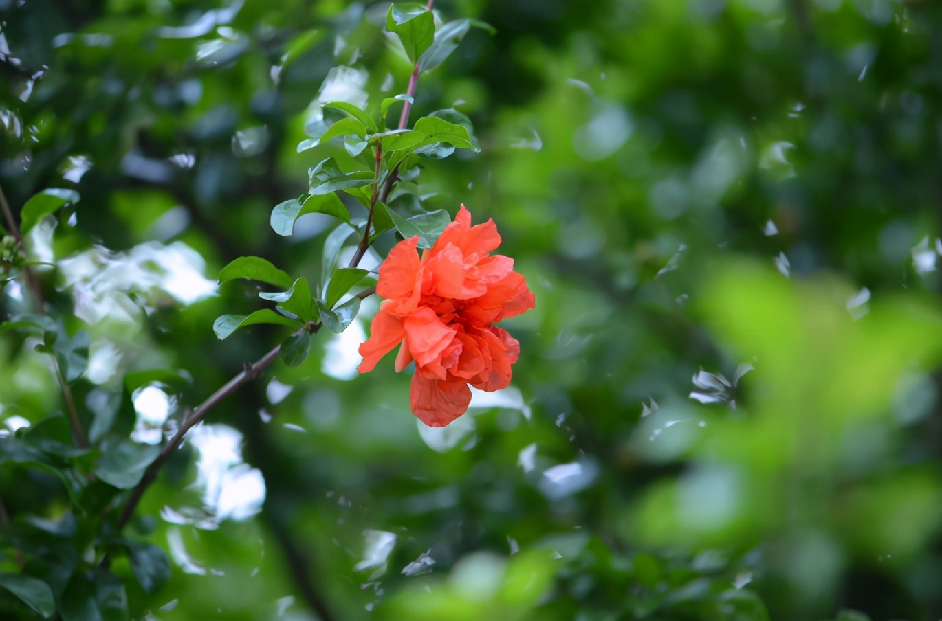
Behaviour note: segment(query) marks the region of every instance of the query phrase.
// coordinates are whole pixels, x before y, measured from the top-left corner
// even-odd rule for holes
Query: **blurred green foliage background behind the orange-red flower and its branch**
[[[0,334],[0,419],[59,460],[0,454],[0,616],[42,612],[23,603],[28,576],[67,620],[938,618],[931,0],[441,0],[442,21],[495,33],[471,28],[419,79],[413,119],[454,105],[481,147],[425,160],[422,206],[494,217],[527,276],[536,310],[504,325],[523,405],[476,408],[433,450],[408,377],[391,361],[326,374],[322,333],[207,419],[242,434],[258,515],[194,517],[190,443],[127,540],[126,492],[63,485],[69,459],[127,469],[108,442],[135,426],[134,389],[159,382],[179,421],[287,331],[217,340],[220,314],[267,308],[244,281],[188,306],[141,291],[146,314],[87,325],[60,262],[179,241],[209,279],[244,255],[316,279],[330,218],[283,237],[269,214],[306,192],[308,167],[347,162],[342,145],[296,149],[325,79],[349,87],[333,68],[356,70],[370,105],[405,92],[387,6],[0,0],[0,183],[14,212],[78,192],[42,225],[57,221],[49,256],[27,250],[54,263],[39,273],[62,332],[122,357],[73,385],[87,430],[114,416],[75,457],[41,340]],[[74,183],[78,156],[91,167]],[[28,310],[16,291],[5,321]],[[292,387],[276,403],[272,378]]]

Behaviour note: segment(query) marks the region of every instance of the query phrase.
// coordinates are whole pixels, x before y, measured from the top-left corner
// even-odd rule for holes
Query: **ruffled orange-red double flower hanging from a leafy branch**
[[[411,403],[422,422],[442,427],[461,416],[471,385],[500,390],[511,382],[520,343],[494,326],[532,309],[533,293],[500,246],[494,220],[471,226],[458,211],[421,258],[418,237],[402,240],[380,266],[376,293],[386,298],[360,345],[360,373],[399,345],[396,371],[415,362]]]

